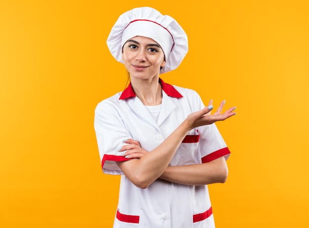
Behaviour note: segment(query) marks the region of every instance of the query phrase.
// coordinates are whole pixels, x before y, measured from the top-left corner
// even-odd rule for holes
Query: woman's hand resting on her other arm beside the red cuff
[[[121,153],[121,156],[125,158],[141,158],[144,156],[148,151],[143,149],[140,145],[140,142],[133,140],[133,139],[128,139],[126,141],[123,141],[124,143],[127,143],[127,145],[124,145],[119,152]]]

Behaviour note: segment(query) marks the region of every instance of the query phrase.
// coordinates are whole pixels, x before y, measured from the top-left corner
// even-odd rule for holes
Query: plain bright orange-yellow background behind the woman
[[[217,228],[309,227],[307,0],[0,0],[0,227],[110,228],[119,177],[101,171],[98,102],[123,90],[106,39],[151,6],[187,32],[171,84],[223,99],[232,155],[210,186]],[[176,1],[175,1],[176,2]]]

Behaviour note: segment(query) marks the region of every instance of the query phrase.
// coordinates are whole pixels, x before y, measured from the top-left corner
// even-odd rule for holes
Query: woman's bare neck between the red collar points
[[[158,77],[146,80],[131,78],[134,92],[144,105],[154,106],[162,103],[162,87],[158,80]]]

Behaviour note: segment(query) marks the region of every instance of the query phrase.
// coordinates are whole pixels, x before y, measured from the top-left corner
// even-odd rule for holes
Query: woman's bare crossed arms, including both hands
[[[235,107],[221,114],[224,102],[221,103],[216,113],[210,114],[210,106],[201,111],[194,112],[175,129],[172,134],[151,153],[140,147],[138,141],[127,140],[119,152],[123,156],[129,156],[128,161],[117,162],[124,175],[137,187],[147,188],[156,179],[185,185],[206,185],[225,182],[228,168],[225,158],[221,157],[214,161],[185,166],[169,166],[177,148],[185,136],[195,127],[212,124],[216,121],[225,120],[235,113]]]

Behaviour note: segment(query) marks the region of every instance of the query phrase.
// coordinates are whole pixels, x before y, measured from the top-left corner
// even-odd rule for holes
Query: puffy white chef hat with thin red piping
[[[119,16],[107,38],[107,45],[118,62],[123,63],[124,43],[136,36],[152,38],[161,46],[166,62],[161,74],[176,69],[188,52],[188,37],[177,21],[151,7],[134,8]]]

